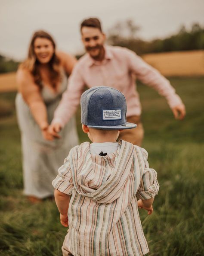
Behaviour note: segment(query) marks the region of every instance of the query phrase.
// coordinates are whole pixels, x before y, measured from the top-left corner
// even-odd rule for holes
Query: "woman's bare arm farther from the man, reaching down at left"
[[[49,126],[47,120],[47,110],[43,98],[40,94],[39,87],[34,83],[34,78],[28,70],[19,69],[16,76],[19,92],[31,109],[31,113],[43,132],[43,136],[52,140],[53,136],[46,133]]]

